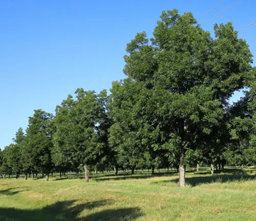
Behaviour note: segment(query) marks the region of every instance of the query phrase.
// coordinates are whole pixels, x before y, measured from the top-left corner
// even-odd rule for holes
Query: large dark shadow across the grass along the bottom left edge
[[[91,210],[96,207],[110,205],[110,200],[94,201],[85,204],[75,204],[75,201],[57,202],[48,207],[37,210],[21,210],[14,208],[0,208],[0,220],[20,221],[69,221],[69,220],[135,220],[142,216],[139,208],[125,208],[116,210],[104,210],[87,216],[80,216],[83,210]]]

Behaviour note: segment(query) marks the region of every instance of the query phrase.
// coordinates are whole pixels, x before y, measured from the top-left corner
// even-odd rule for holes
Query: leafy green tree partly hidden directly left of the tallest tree
[[[141,143],[141,123],[137,109],[139,91],[139,84],[130,78],[114,82],[110,100],[113,124],[110,127],[109,143],[116,159],[114,166],[116,169],[131,169],[132,174],[145,151]]]

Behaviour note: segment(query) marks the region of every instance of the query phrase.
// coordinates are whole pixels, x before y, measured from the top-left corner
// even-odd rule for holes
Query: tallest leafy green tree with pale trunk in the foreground
[[[201,134],[205,145],[213,141],[209,149],[218,144],[216,130],[225,124],[227,101],[245,86],[251,72],[252,55],[232,24],[215,25],[214,30],[215,39],[191,13],[168,10],[151,44],[142,32],[126,47],[124,73],[141,82],[141,91],[152,100],[141,106],[146,112],[141,119],[159,137],[155,149],[178,152],[181,187],[185,151],[195,148]]]

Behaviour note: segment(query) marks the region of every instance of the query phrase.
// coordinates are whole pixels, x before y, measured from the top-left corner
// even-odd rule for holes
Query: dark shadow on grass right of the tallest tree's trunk
[[[224,171],[217,171],[214,175],[207,175],[207,176],[193,176],[186,178],[187,184],[191,186],[197,186],[204,183],[226,183],[226,182],[235,182],[235,181],[248,181],[248,180],[255,180],[256,175],[248,174],[246,171],[242,169],[227,169]],[[204,175],[205,173],[199,173]],[[208,174],[208,173],[207,173]],[[178,183],[179,179],[171,180],[171,181],[158,181],[154,182],[154,184],[160,183],[168,183],[174,182]]]

